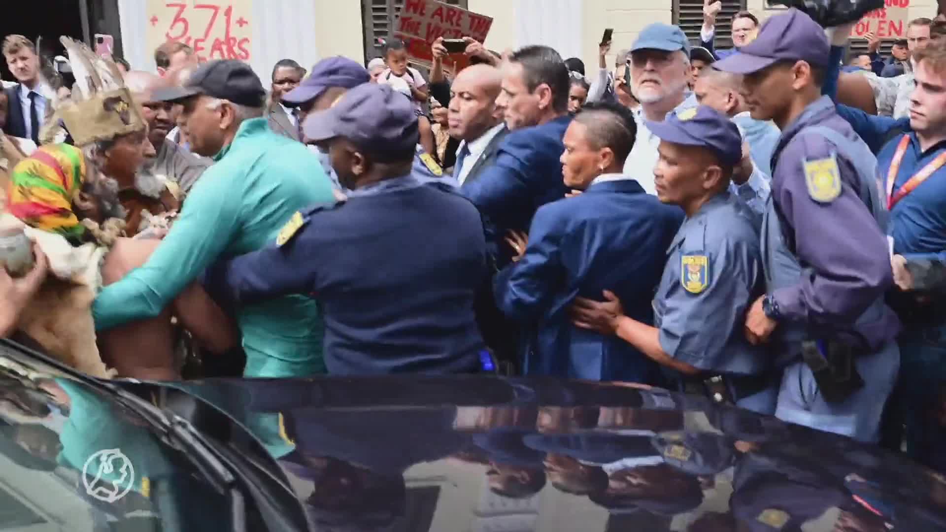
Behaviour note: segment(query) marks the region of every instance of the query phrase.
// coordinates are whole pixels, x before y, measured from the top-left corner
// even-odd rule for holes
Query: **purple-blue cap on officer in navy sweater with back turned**
[[[332,107],[309,114],[303,133],[312,142],[344,137],[359,148],[392,155],[413,153],[420,134],[411,100],[377,83],[362,83]]]

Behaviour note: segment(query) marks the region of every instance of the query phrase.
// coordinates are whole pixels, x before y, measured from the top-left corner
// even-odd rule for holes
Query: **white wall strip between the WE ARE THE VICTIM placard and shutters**
[[[516,0],[517,46],[552,46],[562,59],[582,57],[582,0]]]

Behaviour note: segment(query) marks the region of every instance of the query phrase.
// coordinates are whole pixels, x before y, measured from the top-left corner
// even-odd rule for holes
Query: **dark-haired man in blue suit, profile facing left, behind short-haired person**
[[[497,106],[509,133],[496,162],[463,187],[496,225],[494,243],[506,229],[529,227],[535,210],[562,199],[562,136],[569,127],[569,69],[548,46],[525,46],[503,65]],[[500,261],[501,262],[501,261]]]

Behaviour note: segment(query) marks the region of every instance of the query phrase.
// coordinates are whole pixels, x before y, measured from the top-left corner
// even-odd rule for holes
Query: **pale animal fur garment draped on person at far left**
[[[114,377],[96,346],[92,303],[101,289],[101,265],[125,222],[109,220],[99,226],[83,221],[98,242],[73,247],[64,237],[26,226],[9,213],[0,227],[22,227],[49,259],[49,273],[39,292],[20,314],[19,328],[64,364],[101,379]]]

